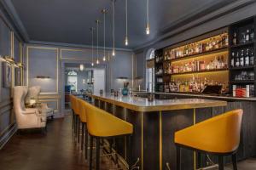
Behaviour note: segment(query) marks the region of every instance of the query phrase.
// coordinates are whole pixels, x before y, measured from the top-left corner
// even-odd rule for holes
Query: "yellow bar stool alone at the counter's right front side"
[[[237,170],[236,151],[240,143],[242,110],[226,112],[175,133],[177,170],[181,169],[181,147],[218,156],[218,169],[224,170],[224,156],[232,156]]]

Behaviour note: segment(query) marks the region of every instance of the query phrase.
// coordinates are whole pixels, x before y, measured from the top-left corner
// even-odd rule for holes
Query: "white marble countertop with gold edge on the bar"
[[[212,99],[154,99],[135,96],[114,97],[111,94],[87,94],[93,99],[99,99],[113,105],[119,105],[133,111],[171,111],[195,108],[218,107],[227,105],[226,101]]]

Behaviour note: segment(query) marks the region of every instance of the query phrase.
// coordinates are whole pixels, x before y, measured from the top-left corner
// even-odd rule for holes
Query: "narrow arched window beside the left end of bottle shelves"
[[[149,92],[152,92],[154,91],[154,48],[148,50],[146,59],[146,88]]]

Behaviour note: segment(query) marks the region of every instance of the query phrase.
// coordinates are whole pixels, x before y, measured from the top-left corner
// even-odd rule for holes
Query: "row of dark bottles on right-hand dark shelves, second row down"
[[[232,51],[230,65],[231,67],[254,65],[253,48],[241,48],[240,50]]]

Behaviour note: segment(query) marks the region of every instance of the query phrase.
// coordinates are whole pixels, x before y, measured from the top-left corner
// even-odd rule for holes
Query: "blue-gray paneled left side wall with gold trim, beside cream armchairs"
[[[8,20],[3,20],[0,11],[0,149],[15,133],[15,114],[12,110],[12,87],[15,85],[15,67],[12,66],[12,87],[3,88],[3,56],[14,57],[15,62],[22,62],[22,42]]]

